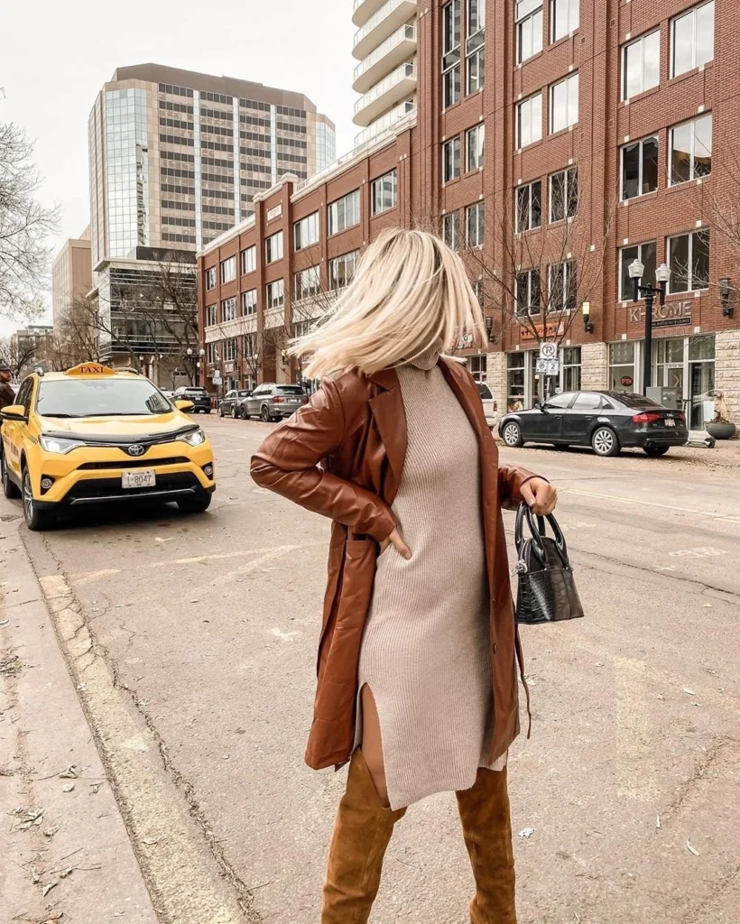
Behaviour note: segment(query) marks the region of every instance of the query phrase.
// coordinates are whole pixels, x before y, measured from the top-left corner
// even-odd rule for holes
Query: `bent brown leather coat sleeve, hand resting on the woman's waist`
[[[342,399],[334,382],[326,379],[309,404],[261,444],[251,459],[251,476],[262,488],[381,542],[395,528],[390,507],[377,494],[319,467],[344,435]]]

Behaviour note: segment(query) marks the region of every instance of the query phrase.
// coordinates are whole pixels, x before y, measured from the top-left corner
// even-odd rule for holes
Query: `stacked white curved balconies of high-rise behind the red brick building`
[[[356,142],[371,141],[417,105],[417,0],[355,0]]]

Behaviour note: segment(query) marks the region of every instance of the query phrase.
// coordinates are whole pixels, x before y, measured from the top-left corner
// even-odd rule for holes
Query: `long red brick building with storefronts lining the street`
[[[560,345],[563,390],[641,389],[638,257],[643,282],[672,270],[652,383],[679,390],[694,428],[715,388],[740,420],[740,6],[488,0],[482,12],[419,0],[416,111],[308,180],[285,176],[200,252],[204,382],[295,381],[285,339],[330,307],[382,228],[421,225],[479,286],[490,343],[467,353],[499,407],[538,395],[543,338]]]

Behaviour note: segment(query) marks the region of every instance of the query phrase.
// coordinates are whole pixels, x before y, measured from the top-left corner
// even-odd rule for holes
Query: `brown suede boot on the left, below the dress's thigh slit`
[[[366,924],[381,884],[382,858],[406,808],[384,808],[356,750],[339,803],[323,885],[321,924]]]

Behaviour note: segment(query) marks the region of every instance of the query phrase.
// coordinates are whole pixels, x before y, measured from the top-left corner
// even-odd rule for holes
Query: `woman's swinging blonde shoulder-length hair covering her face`
[[[486,336],[463,261],[439,237],[394,228],[365,251],[334,313],[289,352],[309,357],[309,378],[372,374],[434,346],[445,352],[464,332]]]

